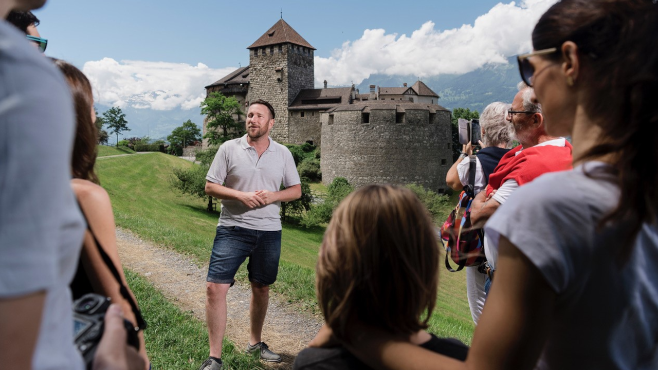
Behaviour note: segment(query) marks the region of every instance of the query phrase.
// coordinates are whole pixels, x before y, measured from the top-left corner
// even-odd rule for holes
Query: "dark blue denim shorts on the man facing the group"
[[[281,255],[281,230],[261,231],[240,226],[217,226],[208,267],[209,282],[233,284],[240,265],[249,257],[249,281],[276,281]]]

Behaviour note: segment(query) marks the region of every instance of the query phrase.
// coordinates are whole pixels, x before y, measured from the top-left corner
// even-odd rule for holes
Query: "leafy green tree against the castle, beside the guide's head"
[[[235,97],[210,93],[201,102],[201,115],[208,118],[207,132],[203,138],[207,138],[211,145],[221,145],[226,140],[239,138],[245,128],[235,117],[243,114]]]

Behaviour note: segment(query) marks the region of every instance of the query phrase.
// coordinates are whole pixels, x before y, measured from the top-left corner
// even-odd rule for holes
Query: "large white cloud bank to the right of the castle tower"
[[[419,77],[462,74],[486,63],[507,63],[507,57],[532,49],[530,35],[539,17],[557,0],[498,3],[473,24],[436,30],[428,21],[411,36],[365,30],[356,41],[343,43],[328,58],[315,57],[315,84],[361,83],[370,74]]]

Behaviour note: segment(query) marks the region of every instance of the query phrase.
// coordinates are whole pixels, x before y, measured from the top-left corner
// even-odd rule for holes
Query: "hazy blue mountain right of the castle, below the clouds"
[[[511,103],[520,82],[517,58],[507,59],[508,63],[482,66],[465,74],[441,74],[422,78],[427,86],[440,96],[439,104],[453,110],[468,108],[482,113],[484,107],[493,101]],[[386,76],[375,74],[363,80],[357,88],[360,93],[370,91],[370,85],[396,87],[413,85],[415,76]]]

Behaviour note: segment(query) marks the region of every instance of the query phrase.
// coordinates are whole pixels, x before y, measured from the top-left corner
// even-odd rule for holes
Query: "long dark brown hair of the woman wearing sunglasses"
[[[651,0],[563,0],[532,32],[535,50],[559,49],[565,41],[578,45],[577,84],[588,97],[586,113],[602,134],[599,144],[574,160],[615,154],[611,172],[621,189],[619,204],[599,225],[628,223],[630,238],[657,216],[656,35],[658,5]]]

